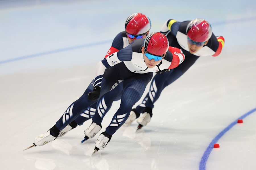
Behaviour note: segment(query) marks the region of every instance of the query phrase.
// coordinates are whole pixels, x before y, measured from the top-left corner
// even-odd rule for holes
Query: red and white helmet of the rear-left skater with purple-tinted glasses
[[[125,21],[125,31],[132,35],[141,35],[151,28],[150,19],[142,13],[131,14]]]

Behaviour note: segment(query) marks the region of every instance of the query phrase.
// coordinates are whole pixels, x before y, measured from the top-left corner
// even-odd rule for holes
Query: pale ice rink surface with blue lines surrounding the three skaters
[[[1,0],[0,169],[256,169],[255,8],[253,0]],[[225,38],[224,49],[217,57],[199,58],[164,89],[147,126],[136,133],[136,122],[122,126],[105,150],[92,155],[98,135],[80,144],[88,120],[23,151],[83,94],[96,63],[135,12],[150,18],[151,32],[171,18],[205,18]],[[119,103],[113,103],[100,132]]]

